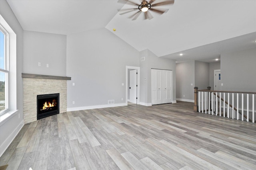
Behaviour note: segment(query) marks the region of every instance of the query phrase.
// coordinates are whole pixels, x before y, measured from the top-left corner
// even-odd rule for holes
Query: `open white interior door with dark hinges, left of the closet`
[[[137,104],[137,70],[130,70],[130,102]]]

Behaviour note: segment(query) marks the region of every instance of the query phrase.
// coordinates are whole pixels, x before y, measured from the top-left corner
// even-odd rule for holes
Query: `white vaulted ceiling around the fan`
[[[68,35],[105,27],[138,51],[177,62],[214,62],[222,53],[256,47],[256,0],[175,0],[163,6],[167,13],[135,21],[127,18],[132,12],[119,15],[117,0],[7,2],[24,30]]]

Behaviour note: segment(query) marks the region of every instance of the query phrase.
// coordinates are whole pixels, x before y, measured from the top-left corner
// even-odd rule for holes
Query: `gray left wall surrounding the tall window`
[[[16,95],[14,95],[14,98],[10,99],[10,103],[14,103],[14,105],[16,105],[16,107],[12,109],[18,109],[17,114],[11,115],[0,123],[0,155],[2,155],[6,147],[8,147],[9,143],[12,141],[12,139],[14,139],[20,128],[24,125],[24,121],[22,119],[23,86],[21,77],[23,70],[23,29],[14,16],[6,0],[0,0],[0,14],[16,33],[16,63],[10,63],[10,66],[16,66],[16,69],[14,68],[16,72],[10,72],[10,74],[14,75],[14,79],[16,75],[16,81],[14,81],[15,83],[10,84],[11,86],[16,86]],[[10,83],[12,83],[12,80],[10,80]]]

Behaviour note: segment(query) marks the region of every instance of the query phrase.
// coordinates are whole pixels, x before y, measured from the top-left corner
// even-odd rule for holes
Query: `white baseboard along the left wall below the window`
[[[1,125],[2,125],[2,123],[1,123]],[[18,133],[20,132],[20,130],[22,129],[23,126],[24,126],[24,121],[21,121],[20,124],[14,129],[14,131],[1,144],[1,146],[0,146],[0,150],[1,150],[0,157],[2,156],[2,154],[4,154],[6,149],[10,146],[10,144],[12,143],[14,138],[18,135]]]

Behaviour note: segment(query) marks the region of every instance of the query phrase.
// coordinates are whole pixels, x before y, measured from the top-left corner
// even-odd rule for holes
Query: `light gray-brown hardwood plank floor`
[[[0,158],[7,170],[256,169],[256,124],[193,104],[72,111],[25,124]]]

